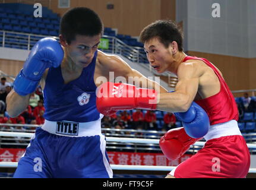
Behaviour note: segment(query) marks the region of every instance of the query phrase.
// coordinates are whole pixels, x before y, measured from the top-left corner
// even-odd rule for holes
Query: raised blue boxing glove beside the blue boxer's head
[[[40,39],[29,53],[23,69],[14,81],[14,90],[21,96],[33,93],[42,78],[45,69],[61,65],[64,51],[60,43],[51,38]]]

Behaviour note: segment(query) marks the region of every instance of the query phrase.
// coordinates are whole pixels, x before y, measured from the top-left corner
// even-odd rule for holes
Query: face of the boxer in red
[[[173,62],[172,50],[165,47],[157,37],[154,37],[144,43],[144,49],[147,53],[148,62],[157,72],[162,73],[168,70]]]

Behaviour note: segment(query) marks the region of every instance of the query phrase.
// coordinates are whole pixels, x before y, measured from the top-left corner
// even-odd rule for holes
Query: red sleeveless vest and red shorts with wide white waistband
[[[195,101],[207,113],[210,129],[206,144],[194,156],[170,172],[175,178],[245,178],[250,154],[238,128],[238,109],[233,94],[217,69],[207,59],[186,56],[183,62],[198,59],[207,64],[220,81],[220,91],[207,99]]]

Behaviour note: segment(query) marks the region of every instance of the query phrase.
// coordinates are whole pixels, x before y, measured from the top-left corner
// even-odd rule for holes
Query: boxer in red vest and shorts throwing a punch
[[[184,128],[170,129],[159,144],[169,160],[178,159],[204,137],[204,147],[166,178],[245,178],[250,154],[238,128],[236,102],[219,69],[207,59],[187,56],[182,34],[171,21],[150,24],[140,39],[157,72],[178,76],[175,91],[157,94],[132,85],[105,83],[97,92],[99,112],[140,108],[175,113]]]

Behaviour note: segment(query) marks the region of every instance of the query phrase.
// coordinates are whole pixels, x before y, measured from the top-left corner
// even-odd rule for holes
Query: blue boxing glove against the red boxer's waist
[[[206,111],[195,102],[192,102],[187,112],[174,114],[182,121],[182,125],[189,137],[204,137],[210,128],[210,121]]]

